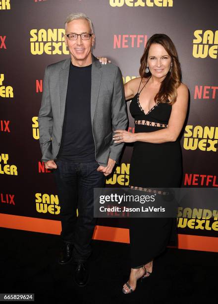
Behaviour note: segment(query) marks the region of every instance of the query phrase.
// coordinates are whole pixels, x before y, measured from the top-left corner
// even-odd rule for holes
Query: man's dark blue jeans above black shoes
[[[74,244],[75,261],[86,261],[90,256],[91,240],[96,224],[93,204],[93,188],[102,188],[105,175],[93,162],[56,161],[54,177],[58,192],[63,241]],[[78,208],[78,217],[76,209]]]

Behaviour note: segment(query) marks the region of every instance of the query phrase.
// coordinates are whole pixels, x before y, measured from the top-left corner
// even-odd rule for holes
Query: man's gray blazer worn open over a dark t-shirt
[[[118,161],[123,148],[114,144],[112,132],[125,130],[128,124],[121,72],[113,64],[102,65],[92,55],[91,122],[96,160],[107,166],[108,159]],[[55,159],[61,142],[71,59],[46,68],[42,104],[39,111],[39,134],[42,161]]]

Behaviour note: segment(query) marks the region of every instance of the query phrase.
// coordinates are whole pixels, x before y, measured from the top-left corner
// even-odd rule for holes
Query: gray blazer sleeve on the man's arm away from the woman
[[[52,159],[52,130],[53,130],[53,113],[51,105],[51,96],[49,89],[48,67],[45,70],[43,80],[42,103],[38,116],[39,123],[39,143],[42,151],[42,161]]]

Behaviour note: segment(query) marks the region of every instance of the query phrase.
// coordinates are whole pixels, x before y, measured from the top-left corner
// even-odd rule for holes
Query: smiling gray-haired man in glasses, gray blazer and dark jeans
[[[94,41],[85,14],[67,17],[65,43],[71,58],[46,68],[38,117],[42,160],[54,169],[61,207],[59,263],[73,258],[79,286],[88,281],[86,262],[96,223],[93,189],[104,186],[119,159],[123,145],[113,143],[112,132],[127,127],[120,70],[99,63],[91,53]]]

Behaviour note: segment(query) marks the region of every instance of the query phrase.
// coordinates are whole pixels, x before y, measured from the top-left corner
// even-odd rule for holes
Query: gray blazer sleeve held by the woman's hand
[[[128,126],[128,116],[126,110],[126,101],[124,86],[120,69],[116,67],[114,76],[113,96],[111,103],[111,123],[112,132],[115,130],[126,130]],[[109,148],[109,158],[118,162],[124,143],[116,144],[111,142]]]

